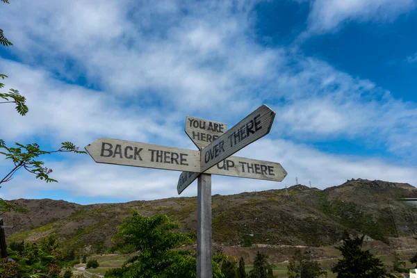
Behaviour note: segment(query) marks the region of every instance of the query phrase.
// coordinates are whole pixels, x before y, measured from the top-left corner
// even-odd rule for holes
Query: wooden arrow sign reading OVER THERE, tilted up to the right
[[[239,149],[249,145],[270,132],[275,112],[265,104],[247,115],[231,129],[200,152],[200,172],[205,172]]]

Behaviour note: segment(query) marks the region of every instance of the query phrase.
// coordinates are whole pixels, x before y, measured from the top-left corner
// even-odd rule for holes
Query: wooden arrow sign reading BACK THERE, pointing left
[[[99,138],[85,147],[97,163],[199,172],[199,152],[141,142]]]

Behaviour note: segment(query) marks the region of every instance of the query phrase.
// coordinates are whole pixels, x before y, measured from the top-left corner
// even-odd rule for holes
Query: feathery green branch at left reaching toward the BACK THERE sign
[[[44,162],[35,160],[38,156],[44,154],[53,154],[56,152],[74,152],[75,154],[86,154],[86,152],[79,151],[79,147],[76,147],[72,142],[63,142],[61,147],[55,151],[43,151],[40,149],[40,146],[36,143],[22,145],[15,143],[17,147],[6,147],[3,140],[0,140],[0,154],[6,156],[6,159],[13,161],[15,167],[6,174],[1,183],[5,183],[13,179],[13,175],[21,168],[24,168],[28,172],[35,174],[36,179],[41,179],[49,182],[58,182],[56,179],[51,179],[49,174],[51,174],[52,169],[44,167]]]

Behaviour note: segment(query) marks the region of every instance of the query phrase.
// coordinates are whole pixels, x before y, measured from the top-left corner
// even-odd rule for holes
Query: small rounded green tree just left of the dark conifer
[[[311,252],[297,250],[288,264],[288,278],[318,278],[327,277],[327,272],[320,263],[313,261]]]

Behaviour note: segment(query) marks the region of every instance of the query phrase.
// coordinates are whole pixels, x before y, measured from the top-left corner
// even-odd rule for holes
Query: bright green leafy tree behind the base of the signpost
[[[127,260],[121,268],[108,270],[105,277],[172,277],[196,276],[197,263],[192,252],[178,247],[193,242],[190,234],[181,234],[179,224],[166,215],[145,217],[137,211],[122,220],[112,240],[117,246],[133,245],[139,254]],[[224,256],[224,255],[223,255]],[[213,262],[213,277],[223,277],[218,263]]]

